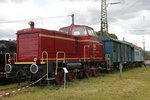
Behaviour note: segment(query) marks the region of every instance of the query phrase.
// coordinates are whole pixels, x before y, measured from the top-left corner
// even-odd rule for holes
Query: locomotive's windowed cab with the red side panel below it
[[[94,32],[93,28],[85,25],[74,25],[71,24],[68,27],[60,28],[60,32],[66,33],[68,35],[73,35],[76,37],[76,41],[84,41],[81,47],[84,49],[84,61],[86,57],[89,57],[89,61],[95,60],[96,57],[100,57],[99,60],[102,60],[102,43],[98,39],[98,36]]]

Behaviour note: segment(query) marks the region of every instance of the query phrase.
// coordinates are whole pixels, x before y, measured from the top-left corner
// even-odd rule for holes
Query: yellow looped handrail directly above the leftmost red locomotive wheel
[[[59,54],[63,54],[63,58],[59,58]],[[58,69],[58,62],[59,60],[63,60],[63,63],[65,62],[66,53],[64,51],[58,51],[56,53],[56,69],[55,69],[55,75],[57,75],[57,69]]]

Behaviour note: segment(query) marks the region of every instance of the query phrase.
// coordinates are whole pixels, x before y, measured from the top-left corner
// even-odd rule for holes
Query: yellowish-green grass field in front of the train
[[[0,86],[1,88],[2,86]],[[74,80],[63,85],[34,86],[1,100],[150,100],[150,67]]]

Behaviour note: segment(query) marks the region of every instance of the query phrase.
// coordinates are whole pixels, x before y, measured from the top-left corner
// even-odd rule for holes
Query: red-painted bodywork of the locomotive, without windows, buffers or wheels
[[[60,32],[67,28],[66,32]],[[24,29],[17,32],[17,61],[33,62],[42,59],[42,52],[48,53],[49,61],[56,61],[56,53],[65,52],[66,61],[103,60],[103,45],[96,36],[90,35],[92,28],[71,25],[60,31],[40,28]],[[84,28],[86,35],[74,35],[74,28]],[[59,54],[63,58],[64,54]]]

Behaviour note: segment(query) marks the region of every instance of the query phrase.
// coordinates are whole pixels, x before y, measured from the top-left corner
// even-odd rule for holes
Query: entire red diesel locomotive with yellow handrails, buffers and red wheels
[[[105,66],[103,44],[91,27],[71,24],[54,31],[29,24],[30,28],[17,32],[16,62],[6,65],[7,76],[39,78],[46,74],[46,80],[59,83],[63,67],[71,80],[97,76],[98,69]]]

